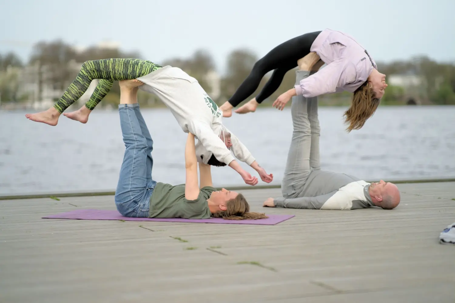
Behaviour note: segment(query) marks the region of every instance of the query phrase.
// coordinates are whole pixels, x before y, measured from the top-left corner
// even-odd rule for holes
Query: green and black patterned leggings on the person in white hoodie
[[[81,98],[92,80],[100,79],[90,100],[85,104],[86,108],[93,110],[111,90],[114,81],[136,79],[156,71],[160,67],[153,62],[140,59],[114,58],[86,61],[82,64],[76,79],[66,89],[54,108],[59,113],[63,113],[66,108]]]

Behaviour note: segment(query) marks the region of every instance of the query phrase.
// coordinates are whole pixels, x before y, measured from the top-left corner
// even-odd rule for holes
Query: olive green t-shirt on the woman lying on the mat
[[[196,200],[185,199],[185,185],[157,183],[150,197],[149,218],[209,219],[207,199],[216,189],[203,187]]]

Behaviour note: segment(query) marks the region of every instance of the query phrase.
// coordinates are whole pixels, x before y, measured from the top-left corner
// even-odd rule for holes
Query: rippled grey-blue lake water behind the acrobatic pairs
[[[366,180],[455,177],[455,107],[379,107],[350,134],[344,110],[319,108],[322,169]],[[0,111],[0,194],[115,190],[125,148],[116,110],[95,111],[87,124],[62,116],[56,127],[24,114]],[[153,179],[184,183],[186,134],[165,108],[142,114],[154,140]],[[289,107],[234,114],[224,123],[280,184],[292,136]],[[215,186],[245,185],[229,167],[212,168],[212,177]]]

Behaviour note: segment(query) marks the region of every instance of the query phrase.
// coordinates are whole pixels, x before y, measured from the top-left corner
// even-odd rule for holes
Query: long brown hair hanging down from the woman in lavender
[[[373,116],[379,102],[380,99],[376,98],[376,94],[369,87],[368,81],[357,88],[352,96],[351,107],[344,113],[346,117],[344,123],[349,124],[346,129],[348,133],[353,129],[362,128],[368,118]]]

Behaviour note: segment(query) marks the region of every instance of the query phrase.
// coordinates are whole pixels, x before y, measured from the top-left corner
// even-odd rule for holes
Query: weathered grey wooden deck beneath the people
[[[262,208],[276,226],[51,220],[112,196],[0,200],[1,303],[454,303],[455,182],[399,184],[393,211]],[[181,240],[178,240],[178,239]],[[183,241],[185,242],[183,242]]]

